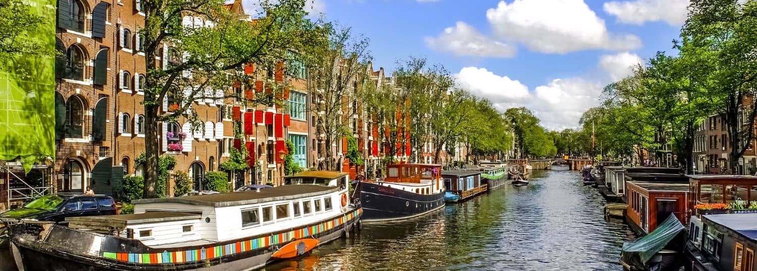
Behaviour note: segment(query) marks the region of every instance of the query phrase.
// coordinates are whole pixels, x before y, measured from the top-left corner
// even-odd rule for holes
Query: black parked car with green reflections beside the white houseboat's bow
[[[0,213],[4,218],[52,221],[60,223],[72,216],[116,214],[116,202],[107,195],[57,194],[37,198],[22,208]]]

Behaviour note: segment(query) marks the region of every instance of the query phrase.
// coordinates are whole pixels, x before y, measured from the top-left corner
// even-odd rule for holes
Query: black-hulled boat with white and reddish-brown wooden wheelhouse
[[[394,164],[384,179],[358,182],[363,221],[400,220],[444,207],[441,165]]]

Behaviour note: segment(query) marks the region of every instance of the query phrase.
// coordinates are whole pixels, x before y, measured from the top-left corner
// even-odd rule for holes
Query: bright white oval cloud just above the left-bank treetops
[[[495,104],[523,101],[529,96],[528,87],[518,80],[498,76],[485,68],[464,67],[455,76],[460,87]]]

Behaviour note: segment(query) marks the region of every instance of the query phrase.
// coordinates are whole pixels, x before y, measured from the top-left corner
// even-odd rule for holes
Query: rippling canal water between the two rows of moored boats
[[[578,172],[534,170],[529,181],[411,220],[366,223],[265,270],[622,270],[621,245],[635,236],[604,219],[605,201]]]

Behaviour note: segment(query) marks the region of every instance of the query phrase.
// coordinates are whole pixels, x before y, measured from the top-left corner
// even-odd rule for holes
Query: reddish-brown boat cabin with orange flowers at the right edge
[[[729,204],[734,213],[752,212],[752,209],[757,209],[755,176],[695,175],[689,176],[689,179],[689,191],[692,195],[689,208],[692,210],[696,204]]]

